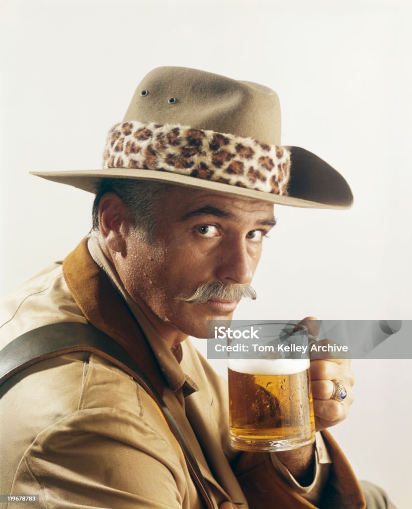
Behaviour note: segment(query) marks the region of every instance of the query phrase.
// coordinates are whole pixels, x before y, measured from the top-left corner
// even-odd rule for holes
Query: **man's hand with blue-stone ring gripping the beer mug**
[[[300,323],[308,328],[310,335],[317,336],[319,325],[315,318],[307,317]],[[335,426],[346,418],[349,406],[354,402],[352,387],[355,377],[350,369],[350,359],[311,360],[310,378],[316,431]],[[347,396],[343,401],[331,400],[335,388],[332,380],[342,382],[345,386]]]

